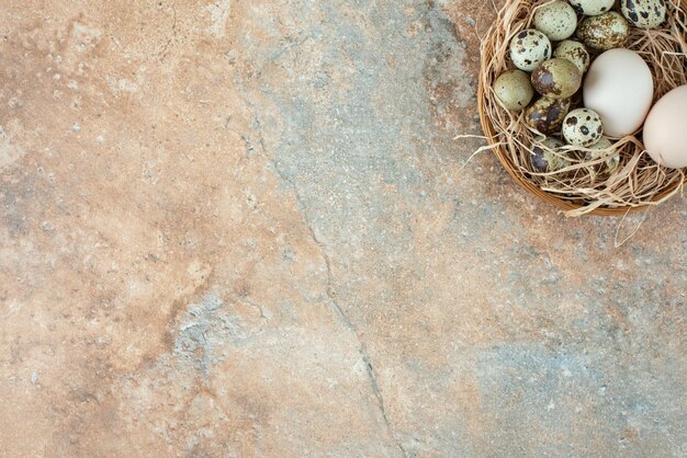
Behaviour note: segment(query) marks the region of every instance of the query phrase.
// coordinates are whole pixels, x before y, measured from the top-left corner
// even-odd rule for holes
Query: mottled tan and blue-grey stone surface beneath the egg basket
[[[488,2],[0,7],[0,455],[687,455],[685,201],[465,165]]]

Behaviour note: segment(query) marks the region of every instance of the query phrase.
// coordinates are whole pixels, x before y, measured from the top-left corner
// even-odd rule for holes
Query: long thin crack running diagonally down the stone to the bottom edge
[[[334,274],[331,272],[331,260],[329,259],[329,254],[327,253],[325,244],[317,238],[317,234],[315,233],[313,224],[309,217],[307,216],[308,215],[307,205],[303,201],[301,196],[301,192],[299,191],[299,187],[296,186],[294,180],[288,176],[285,173],[283,173],[282,170],[279,168],[277,160],[267,152],[267,147],[264,146],[264,140],[263,140],[262,131],[261,131],[260,117],[258,116],[258,110],[252,102],[248,101],[248,104],[254,110],[255,126],[256,126],[256,131],[258,134],[258,141],[260,142],[260,148],[262,150],[262,153],[264,153],[266,158],[271,163],[272,169],[274,170],[277,175],[283,182],[288,183],[293,190],[293,194],[296,198],[296,202],[299,203],[299,207],[301,208],[305,227],[307,228],[307,231],[313,242],[315,242],[315,244],[319,248],[320,255],[323,260],[325,261],[325,266],[327,267],[326,294],[327,294],[327,298],[329,299],[329,304],[331,305],[331,309],[339,317],[344,325],[348,328],[353,334],[353,336],[356,337],[356,341],[358,342],[358,345],[359,345],[358,353],[360,354],[360,357],[365,365],[365,371],[368,373],[368,378],[370,380],[370,388],[372,389],[372,393],[374,394],[374,398],[376,399],[376,402],[379,404],[380,413],[382,414],[382,420],[384,420],[384,424],[386,426],[388,435],[393,439],[394,444],[398,447],[402,455],[404,457],[407,457],[408,454],[403,447],[401,440],[398,440],[398,438],[394,434],[393,425],[391,424],[391,421],[388,420],[388,416],[386,414],[386,404],[384,403],[384,397],[382,396],[382,392],[380,391],[376,373],[374,370],[374,366],[372,365],[372,362],[370,360],[370,357],[368,356],[365,345],[362,343],[362,340],[360,339],[360,334],[358,333],[356,325],[351,322],[351,320],[344,312],[344,310],[341,309],[341,307],[336,300],[336,291],[334,290],[334,287],[333,287]]]

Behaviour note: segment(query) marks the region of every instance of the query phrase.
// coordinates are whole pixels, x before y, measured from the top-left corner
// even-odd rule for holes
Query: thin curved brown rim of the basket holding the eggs
[[[513,1],[515,1],[515,0],[506,0],[506,4],[509,4]],[[495,31],[495,28],[491,27],[489,28],[489,33],[492,33],[493,31]],[[489,35],[487,34],[483,38],[483,43],[485,41],[487,41],[488,36]],[[484,66],[485,62],[487,62],[488,59],[491,59],[491,57],[492,57],[491,48],[487,49],[486,46],[483,46],[482,47],[482,53],[481,53],[481,65]],[[503,147],[502,145],[498,144],[498,139],[496,138],[496,131],[494,129],[494,126],[493,126],[492,122],[487,118],[487,116],[486,116],[486,114],[484,112],[484,104],[485,104],[485,101],[486,101],[486,98],[487,98],[488,93],[489,93],[489,91],[486,90],[485,87],[484,87],[484,75],[481,71],[480,72],[480,78],[478,78],[478,87],[477,87],[477,112],[480,113],[480,123],[482,124],[482,130],[484,131],[484,135],[485,135],[485,137],[487,139],[488,145],[493,145],[492,146],[492,151],[498,158],[498,161],[502,163],[504,169],[506,169],[506,172],[508,172],[508,174],[521,187],[523,187],[527,191],[529,191],[530,193],[534,194],[541,201],[548,202],[549,204],[552,204],[552,205],[561,208],[562,210],[572,211],[572,210],[576,210],[576,209],[585,207],[585,205],[583,205],[583,204],[572,203],[570,201],[566,201],[565,198],[559,197],[559,196],[556,196],[554,194],[547,193],[545,191],[542,191],[539,186],[536,186],[530,181],[528,181],[527,178],[522,173],[520,173],[518,171],[518,169],[515,167],[515,164],[510,160],[509,154],[507,153],[505,147]],[[665,196],[667,196],[668,194],[674,192],[676,188],[678,188],[680,186],[685,186],[685,185],[687,185],[687,176],[685,176],[685,180],[683,180],[682,183],[680,182],[676,182],[669,188],[667,188],[667,190],[663,191],[662,193],[657,194],[656,196],[654,196],[652,202],[657,203],[661,199],[663,199]],[[631,214],[631,213],[647,210],[647,209],[654,207],[655,205],[656,204],[643,204],[643,205],[634,205],[634,206],[632,206],[632,205],[620,206],[619,205],[617,207],[597,207],[597,208],[594,208],[594,209],[585,213],[584,215],[623,216],[623,215]]]

